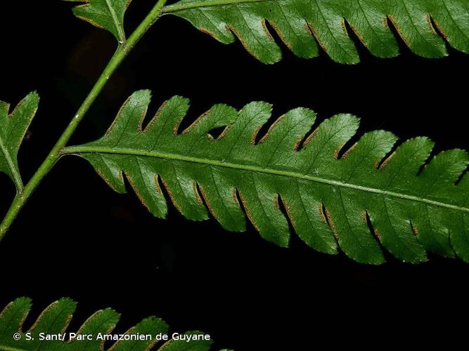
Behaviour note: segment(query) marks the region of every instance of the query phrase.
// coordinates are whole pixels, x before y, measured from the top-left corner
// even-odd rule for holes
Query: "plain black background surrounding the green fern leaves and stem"
[[[4,1],[6,3],[6,1]],[[41,104],[20,150],[29,179],[84,100],[115,41],[75,19],[60,1],[8,1],[0,8],[0,98],[15,105],[37,90]],[[136,0],[127,32],[153,6]],[[280,41],[278,41],[280,42]],[[359,43],[356,40],[356,43]],[[383,128],[401,138],[428,135],[437,150],[469,149],[468,57],[425,60],[401,44],[401,56],[338,65],[324,55],[262,65],[237,42],[217,43],[184,20],[165,17],[110,79],[71,143],[98,138],[128,95],[153,91],[153,114],[172,95],[191,98],[187,121],[215,102],[243,107],[274,103],[274,115],[311,107],[324,119],[362,118],[361,131]],[[14,196],[0,175],[0,210]],[[173,331],[210,333],[216,347],[307,350],[349,346],[449,343],[467,335],[469,265],[430,255],[422,265],[371,267],[326,256],[292,236],[291,248],[269,244],[249,227],[225,232],[214,221],[192,223],[171,208],[153,218],[132,193],[119,195],[86,161],[62,159],[41,183],[0,244],[0,305],[29,296],[27,324],[62,296],[79,305],[69,331],[95,310],[122,313],[116,331],[151,314]],[[301,345],[301,346],[300,346]]]

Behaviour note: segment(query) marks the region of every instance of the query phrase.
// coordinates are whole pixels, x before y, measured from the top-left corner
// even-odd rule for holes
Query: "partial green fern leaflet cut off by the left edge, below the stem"
[[[9,113],[10,105],[0,101],[0,172],[15,182],[18,192],[23,191],[18,168],[18,151],[37,112],[39,95],[30,93]]]

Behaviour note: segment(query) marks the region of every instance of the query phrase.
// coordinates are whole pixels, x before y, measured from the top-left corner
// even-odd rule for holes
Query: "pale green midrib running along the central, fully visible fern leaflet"
[[[271,174],[274,176],[284,176],[289,178],[297,178],[302,180],[309,180],[315,183],[322,183],[327,185],[334,185],[337,187],[345,187],[348,189],[359,190],[362,192],[371,192],[373,194],[380,194],[389,197],[395,197],[398,199],[405,199],[409,201],[416,201],[421,202],[423,204],[430,204],[434,206],[439,206],[443,208],[449,208],[455,211],[461,211],[469,213],[469,208],[463,206],[456,206],[451,204],[445,204],[444,202],[434,201],[431,199],[425,199],[423,197],[416,197],[413,195],[408,194],[400,194],[398,192],[390,192],[387,190],[376,189],[374,187],[364,187],[362,185],[356,185],[352,183],[345,183],[340,182],[338,180],[331,180],[326,178],[319,178],[314,176],[309,176],[302,173],[297,172],[290,172],[290,171],[280,171],[277,169],[271,168],[262,168],[259,166],[251,166],[248,164],[233,164],[231,162],[224,162],[224,161],[217,161],[214,159],[203,159],[199,157],[191,157],[191,156],[184,156],[180,154],[169,154],[166,152],[153,152],[153,151],[143,151],[143,150],[136,150],[126,147],[116,147],[116,148],[109,148],[109,147],[95,147],[95,146],[72,146],[72,147],[65,147],[62,154],[126,154],[126,155],[135,155],[135,156],[143,156],[143,157],[155,157],[158,159],[172,159],[176,161],[186,161],[186,162],[193,162],[195,164],[208,164],[212,166],[219,166],[224,168],[233,168],[239,169],[243,171],[252,171],[257,173],[266,173]]]

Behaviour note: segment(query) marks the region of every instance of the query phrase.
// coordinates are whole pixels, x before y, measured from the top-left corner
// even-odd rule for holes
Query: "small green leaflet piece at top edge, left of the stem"
[[[131,0],[65,0],[86,3],[76,6],[73,13],[82,20],[90,22],[114,34],[117,41],[125,42],[124,14]]]

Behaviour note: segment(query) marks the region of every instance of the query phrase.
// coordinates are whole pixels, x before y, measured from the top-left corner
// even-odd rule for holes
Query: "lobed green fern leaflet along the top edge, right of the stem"
[[[264,63],[281,60],[267,22],[302,58],[319,55],[317,41],[334,61],[359,62],[346,22],[380,58],[398,55],[390,25],[413,53],[425,58],[447,55],[443,38],[469,53],[467,0],[182,0],[164,12],[185,18],[224,44],[238,37]]]

